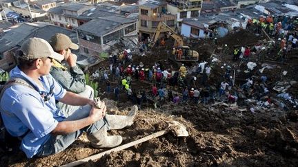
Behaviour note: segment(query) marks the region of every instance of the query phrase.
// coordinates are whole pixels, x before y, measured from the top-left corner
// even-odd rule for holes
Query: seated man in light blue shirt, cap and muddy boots
[[[108,115],[104,102],[95,102],[66,91],[50,75],[52,60],[63,59],[41,38],[29,38],[21,45],[18,66],[10,78],[22,78],[32,88],[14,84],[3,90],[0,112],[6,130],[23,136],[21,150],[28,158],[59,153],[85,131],[92,146],[110,148],[121,144],[119,135],[108,136],[110,129],[122,129],[133,123],[137,107],[128,115]],[[56,107],[55,100],[70,104],[67,116]]]

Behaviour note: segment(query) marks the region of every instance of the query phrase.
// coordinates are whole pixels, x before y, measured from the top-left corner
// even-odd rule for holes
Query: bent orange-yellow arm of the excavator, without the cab
[[[169,32],[172,38],[175,39],[175,47],[177,46],[183,46],[183,38],[181,38],[181,36],[179,36],[179,34],[177,34],[174,30],[172,30],[171,27],[169,27],[168,25],[166,25],[166,23],[164,22],[159,22],[159,24],[157,25],[157,29],[155,30],[155,34],[153,34],[152,36],[152,42],[155,44],[157,39],[159,38],[159,35],[161,32]]]

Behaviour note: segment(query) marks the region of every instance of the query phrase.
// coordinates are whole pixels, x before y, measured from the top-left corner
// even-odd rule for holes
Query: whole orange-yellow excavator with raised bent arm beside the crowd
[[[161,32],[168,32],[168,35],[175,39],[174,49],[172,55],[177,61],[198,61],[199,53],[195,50],[190,49],[190,47],[185,46],[183,42],[183,38],[177,34],[171,27],[166,25],[164,22],[159,22],[157,25],[157,29],[155,30],[155,34],[152,36],[152,43],[155,45],[157,39]],[[181,51],[179,51],[181,49]]]

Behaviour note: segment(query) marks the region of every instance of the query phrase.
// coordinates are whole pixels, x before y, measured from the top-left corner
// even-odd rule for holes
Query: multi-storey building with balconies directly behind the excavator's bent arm
[[[176,15],[167,11],[167,3],[163,1],[148,1],[139,5],[138,27],[141,38],[152,37],[160,21],[175,29]]]

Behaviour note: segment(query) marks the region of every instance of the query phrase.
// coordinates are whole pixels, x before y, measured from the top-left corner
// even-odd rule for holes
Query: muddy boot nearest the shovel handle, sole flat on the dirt
[[[120,135],[108,136],[106,126],[103,126],[102,129],[95,133],[87,135],[87,137],[91,142],[91,146],[94,148],[113,148],[122,142],[122,137]]]

